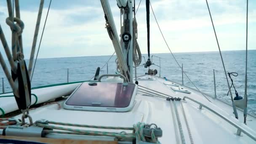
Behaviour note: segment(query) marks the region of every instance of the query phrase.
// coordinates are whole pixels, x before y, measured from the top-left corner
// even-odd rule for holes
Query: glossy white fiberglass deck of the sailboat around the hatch
[[[151,78],[151,80],[148,78]],[[212,101],[211,103],[198,91],[187,87],[182,88],[183,90],[190,91],[190,94],[173,91],[173,89],[171,89],[168,85],[164,84],[166,82],[165,79],[155,76],[145,75],[137,80],[139,81],[139,85],[143,87],[150,88],[170,96],[179,98],[187,96],[199,101],[209,108],[214,109],[214,111],[218,112],[220,115],[227,117],[232,123],[235,123],[244,130],[248,131],[248,133],[255,136],[255,131],[253,130],[256,130],[256,118],[248,115],[247,125],[244,125],[243,112],[238,110],[240,117],[239,122],[232,114],[232,107],[219,101],[218,99],[208,96],[208,99]],[[63,86],[67,87],[67,85]],[[49,87],[51,90],[53,88],[54,87]],[[40,89],[32,90],[32,93],[35,93],[38,97],[40,97]],[[49,104],[30,110],[30,115],[32,116],[34,122],[36,120],[46,119],[63,123],[122,127],[132,127],[132,125],[137,122],[149,124],[155,123],[163,130],[163,136],[159,139],[162,144],[182,143],[181,137],[184,138],[186,144],[190,144],[192,142],[195,144],[256,143],[256,141],[249,138],[244,133],[242,133],[243,136],[235,135],[237,128],[221,117],[215,115],[205,107],[199,109],[199,104],[189,99],[186,99],[185,101],[167,101],[164,98],[149,96],[141,91],[138,91],[135,101],[136,102],[133,109],[129,112],[92,112],[67,110],[63,108],[62,104],[64,101],[59,101],[59,104],[61,104],[61,109],[58,109],[57,104]],[[20,118],[21,115],[16,117]],[[180,123],[177,117],[179,117]],[[182,136],[180,134],[181,130],[183,134]],[[99,129],[97,129],[97,131],[99,131]],[[100,129],[100,131],[107,130]]]

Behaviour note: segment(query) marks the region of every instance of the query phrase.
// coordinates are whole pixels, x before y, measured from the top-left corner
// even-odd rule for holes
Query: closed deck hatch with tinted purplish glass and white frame
[[[124,112],[133,106],[136,90],[133,83],[85,82],[71,94],[64,108]]]

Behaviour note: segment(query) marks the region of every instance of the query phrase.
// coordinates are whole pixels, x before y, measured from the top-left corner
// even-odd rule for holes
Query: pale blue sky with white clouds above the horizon
[[[140,0],[136,0],[136,8]],[[50,0],[45,0],[37,48]],[[20,0],[21,20],[25,24],[23,47],[30,56],[40,0]],[[117,32],[120,33],[120,10],[116,0],[109,0]],[[151,0],[157,21],[173,52],[218,51],[205,0]],[[208,0],[222,51],[245,50],[246,0]],[[145,0],[136,14],[138,43],[147,53]],[[248,6],[248,49],[256,49],[256,1]],[[11,30],[6,0],[0,0],[0,24],[11,47]],[[150,51],[168,53],[150,10]],[[0,52],[5,55],[3,45]],[[52,0],[38,58],[101,56],[114,52],[105,29],[100,0]],[[6,56],[5,56],[6,59]]]

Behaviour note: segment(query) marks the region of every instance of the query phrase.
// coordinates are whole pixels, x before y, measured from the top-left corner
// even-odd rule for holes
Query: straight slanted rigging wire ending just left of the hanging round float
[[[207,0],[206,0],[206,4],[207,4],[208,11],[209,11],[209,15],[210,15],[210,17],[211,17],[211,11],[210,11],[210,8],[209,8],[208,1],[207,1]],[[211,17],[211,24],[213,25],[213,31],[214,31],[214,34],[215,34],[215,37],[216,37],[217,45],[218,45],[218,48],[219,48],[219,54],[220,54],[220,56],[221,56],[221,62],[222,62],[223,69],[224,69],[225,76],[226,76],[226,80],[227,80],[227,86],[228,86],[229,91],[230,91],[229,94],[230,94],[230,98],[231,98],[231,101],[232,101],[232,106],[233,106],[235,118],[238,119],[237,109],[236,109],[236,107],[235,107],[234,100],[233,100],[233,96],[232,96],[232,93],[231,93],[231,90],[230,90],[229,80],[227,79],[227,72],[226,72],[226,68],[225,68],[225,65],[224,65],[223,58],[222,58],[221,49],[220,49],[220,47],[219,47],[219,41],[218,41],[218,38],[217,38],[217,35],[216,35],[216,31],[215,31],[215,27],[214,27],[214,24],[213,24],[213,19],[212,19],[212,17]]]

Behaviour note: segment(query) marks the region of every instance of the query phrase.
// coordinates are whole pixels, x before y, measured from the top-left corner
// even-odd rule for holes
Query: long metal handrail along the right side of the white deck
[[[242,128],[240,125],[237,125],[236,123],[234,123],[233,121],[229,120],[227,117],[219,114],[218,112],[216,112],[215,110],[211,109],[210,107],[202,104],[201,102],[195,100],[195,99],[192,99],[192,98],[189,98],[187,96],[184,96],[183,97],[183,100],[185,99],[189,99],[197,104],[199,104],[199,109],[202,109],[202,107],[205,107],[206,109],[208,109],[209,111],[213,112],[215,115],[221,117],[222,119],[224,119],[225,121],[227,121],[229,124],[233,125],[235,128],[237,128],[237,133],[238,132],[243,132],[244,134],[246,134],[247,136],[249,136],[251,139],[253,139],[254,141],[256,141],[256,133],[253,131],[253,132],[248,132],[245,130],[245,128]]]

